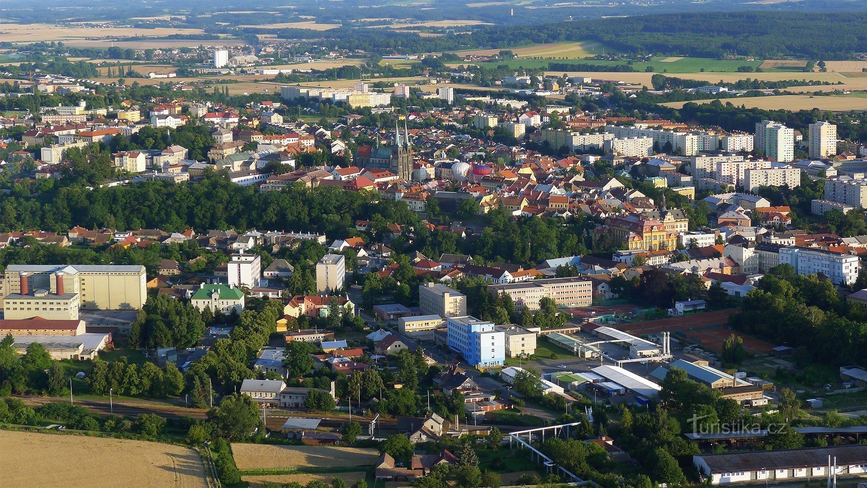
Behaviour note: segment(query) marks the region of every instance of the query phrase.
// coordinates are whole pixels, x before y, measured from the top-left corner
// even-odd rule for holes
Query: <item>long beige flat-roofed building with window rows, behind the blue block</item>
[[[488,291],[493,296],[511,296],[517,309],[538,310],[543,296],[552,298],[558,307],[588,307],[593,302],[593,284],[582,277],[489,284]]]

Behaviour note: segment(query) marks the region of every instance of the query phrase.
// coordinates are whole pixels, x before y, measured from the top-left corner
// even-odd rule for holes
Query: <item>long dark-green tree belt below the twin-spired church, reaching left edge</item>
[[[16,183],[0,203],[0,230],[68,231],[88,229],[195,229],[326,231],[345,236],[364,216],[404,224],[417,219],[407,205],[390,200],[371,201],[361,192],[292,186],[284,192],[257,192],[231,183],[218,174],[191,184],[141,182],[135,185],[56,188],[31,194],[29,185]]]

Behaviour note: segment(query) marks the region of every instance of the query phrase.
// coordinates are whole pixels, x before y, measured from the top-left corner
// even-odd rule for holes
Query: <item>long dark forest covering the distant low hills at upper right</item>
[[[867,42],[867,14],[815,12],[709,12],[629,16],[542,25],[508,25],[472,33],[422,37],[392,29],[344,26],[326,32],[281,29],[286,39],[317,39],[326,49],[361,49],[380,54],[504,49],[532,43],[596,40],[635,55],[670,54],[717,58],[749,55],[813,60],[851,59]],[[748,26],[749,29],[745,29]],[[828,33],[833,32],[833,36]]]

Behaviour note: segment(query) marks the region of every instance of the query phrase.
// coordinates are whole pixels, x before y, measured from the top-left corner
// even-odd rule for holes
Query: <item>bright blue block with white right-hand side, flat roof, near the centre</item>
[[[505,333],[493,322],[473,316],[447,317],[448,348],[477,368],[498,368],[505,361]]]

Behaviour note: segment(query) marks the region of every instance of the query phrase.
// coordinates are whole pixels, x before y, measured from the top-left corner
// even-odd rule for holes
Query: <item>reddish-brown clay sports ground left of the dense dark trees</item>
[[[744,347],[747,351],[757,355],[770,354],[774,347],[773,344],[727,328],[728,316],[731,316],[737,310],[718,310],[695,314],[694,316],[678,316],[646,322],[623,323],[613,327],[634,335],[655,334],[657,332],[681,332],[682,335],[686,335],[686,342],[694,342],[703,348],[708,348],[717,353],[722,352],[722,344],[728,336],[736,334],[743,338]]]

